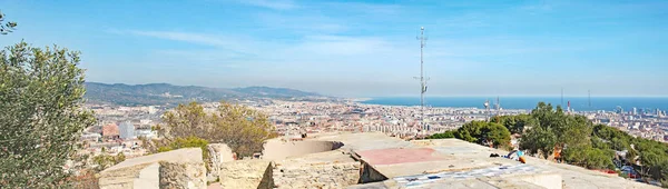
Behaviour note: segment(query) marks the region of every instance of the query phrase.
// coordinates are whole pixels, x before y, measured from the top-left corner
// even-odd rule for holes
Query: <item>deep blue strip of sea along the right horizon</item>
[[[497,97],[425,97],[428,107],[451,107],[451,108],[480,108],[484,109],[485,100],[490,101],[490,107],[497,103]],[[562,105],[567,109],[568,102],[574,111],[616,111],[621,108],[625,112],[632,111],[633,108],[640,112],[656,112],[668,110],[668,97],[500,97],[501,108],[503,109],[525,109],[536,108],[538,102],[552,103],[553,107]],[[362,101],[366,105],[385,106],[420,106],[420,97],[380,97]]]

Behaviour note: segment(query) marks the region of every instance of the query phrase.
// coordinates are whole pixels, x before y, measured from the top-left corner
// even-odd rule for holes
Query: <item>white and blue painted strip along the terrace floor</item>
[[[538,173],[538,169],[529,165],[514,165],[514,166],[501,166],[490,167],[484,169],[475,169],[469,171],[456,171],[456,172],[438,172],[430,175],[418,175],[418,176],[405,176],[395,177],[394,180],[406,188],[414,188],[425,183],[431,183],[440,180],[462,180],[472,179],[479,177],[499,177],[502,175],[530,175]]]

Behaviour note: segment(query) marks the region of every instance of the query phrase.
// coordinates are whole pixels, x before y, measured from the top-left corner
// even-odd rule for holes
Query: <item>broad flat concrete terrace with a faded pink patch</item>
[[[348,188],[658,188],[576,166],[527,157],[527,163],[458,139],[403,141],[383,133],[326,133],[307,140],[341,141],[364,162],[364,185]],[[314,153],[317,155],[317,153]]]

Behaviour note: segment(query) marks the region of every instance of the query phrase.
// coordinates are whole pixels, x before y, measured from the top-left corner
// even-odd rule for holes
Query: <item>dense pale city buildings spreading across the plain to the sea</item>
[[[420,139],[433,133],[453,130],[465,122],[488,120],[492,116],[528,113],[531,110],[488,110],[483,108],[428,108],[425,127],[420,126],[420,107],[365,105],[355,99],[331,99],[320,101],[286,101],[273,99],[244,100],[238,103],[264,112],[281,136],[301,136],[335,131],[383,132],[405,140]],[[482,103],[481,103],[482,105]],[[213,111],[219,102],[206,102]],[[143,156],[138,138],[158,137],[153,127],[160,123],[161,115],[170,109],[166,106],[122,107],[88,105],[98,123],[88,128],[82,140],[88,141],[88,151],[99,155],[124,152],[126,157]],[[568,110],[567,110],[568,111]],[[668,141],[668,117],[664,110],[639,110],[631,108],[612,111],[570,112],[586,116],[595,123],[602,123],[632,136]]]

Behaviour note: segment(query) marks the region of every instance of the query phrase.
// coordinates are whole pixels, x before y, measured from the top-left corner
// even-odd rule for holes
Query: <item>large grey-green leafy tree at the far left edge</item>
[[[0,185],[53,188],[69,176],[81,131],[95,123],[84,110],[79,52],[32,48],[0,51]]]

